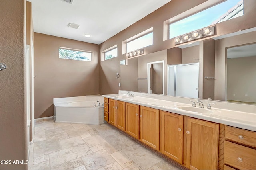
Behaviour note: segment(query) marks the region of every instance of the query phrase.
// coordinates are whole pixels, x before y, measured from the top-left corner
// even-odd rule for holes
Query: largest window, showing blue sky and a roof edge
[[[244,15],[243,0],[227,0],[169,24],[169,39]]]

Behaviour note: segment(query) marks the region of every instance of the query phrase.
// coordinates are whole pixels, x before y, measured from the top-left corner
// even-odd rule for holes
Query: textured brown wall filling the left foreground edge
[[[0,1],[0,160],[27,160],[24,106],[26,43],[24,0]],[[26,169],[26,164],[0,164],[1,170]]]

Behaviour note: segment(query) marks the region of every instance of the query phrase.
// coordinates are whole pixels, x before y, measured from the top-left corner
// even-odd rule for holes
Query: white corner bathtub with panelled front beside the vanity
[[[100,106],[97,104],[100,102]],[[100,125],[104,121],[104,97],[78,96],[70,98],[54,98],[54,121],[59,123],[84,123]],[[96,106],[94,106],[94,104]]]

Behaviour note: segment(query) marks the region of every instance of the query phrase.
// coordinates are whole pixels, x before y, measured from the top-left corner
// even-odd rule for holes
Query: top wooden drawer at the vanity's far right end
[[[238,143],[256,147],[256,132],[253,131],[226,126],[225,138]]]

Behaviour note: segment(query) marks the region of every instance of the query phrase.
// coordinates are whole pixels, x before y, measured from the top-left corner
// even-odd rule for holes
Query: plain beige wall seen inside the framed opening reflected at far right
[[[256,56],[228,59],[227,100],[256,102],[255,74]]]

